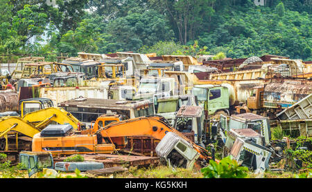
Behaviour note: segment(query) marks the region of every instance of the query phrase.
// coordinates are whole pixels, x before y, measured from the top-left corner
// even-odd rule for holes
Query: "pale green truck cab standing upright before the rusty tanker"
[[[225,86],[211,84],[196,85],[192,90],[198,99],[198,104],[205,109],[205,115],[214,115],[218,111],[227,111],[229,108],[229,90]]]

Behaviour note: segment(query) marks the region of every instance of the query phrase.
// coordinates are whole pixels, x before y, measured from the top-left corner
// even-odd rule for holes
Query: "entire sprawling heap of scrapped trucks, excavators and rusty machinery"
[[[26,57],[0,75],[6,160],[30,175],[38,170],[31,158],[68,171],[73,164],[60,162],[77,154],[89,163],[75,164],[85,171],[103,169],[92,162],[193,169],[227,155],[254,173],[283,160],[285,171],[311,168],[311,157],[296,153],[311,154],[311,62],[113,55]]]

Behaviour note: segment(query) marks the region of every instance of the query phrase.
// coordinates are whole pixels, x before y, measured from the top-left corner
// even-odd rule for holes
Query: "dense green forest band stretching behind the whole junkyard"
[[[0,1],[0,55],[224,52],[312,60],[309,0]],[[44,36],[45,35],[45,36]],[[43,42],[45,41],[45,44]]]

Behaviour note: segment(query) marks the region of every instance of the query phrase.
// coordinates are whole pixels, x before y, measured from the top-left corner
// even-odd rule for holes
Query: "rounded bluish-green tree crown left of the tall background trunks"
[[[105,31],[112,35],[117,50],[137,51],[143,45],[153,46],[157,41],[169,41],[174,37],[165,17],[155,10],[129,12],[109,23]]]

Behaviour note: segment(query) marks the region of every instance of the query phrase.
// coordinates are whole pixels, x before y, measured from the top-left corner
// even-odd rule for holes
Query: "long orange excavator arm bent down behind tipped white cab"
[[[103,128],[100,128],[96,135],[101,135],[101,137],[127,137],[127,136],[135,136],[135,135],[147,135],[152,136],[155,139],[162,140],[162,138],[168,132],[174,132],[184,140],[187,140],[190,144],[192,144],[193,148],[195,148],[198,153],[200,153],[200,159],[209,160],[210,153],[201,146],[198,146],[189,138],[185,137],[177,131],[175,128],[168,125],[164,122],[164,117],[138,117],[134,119],[128,119],[121,122],[114,122],[109,124]]]

